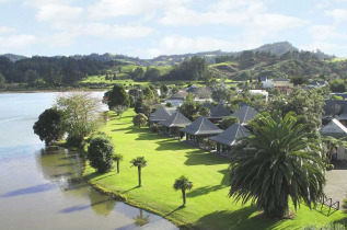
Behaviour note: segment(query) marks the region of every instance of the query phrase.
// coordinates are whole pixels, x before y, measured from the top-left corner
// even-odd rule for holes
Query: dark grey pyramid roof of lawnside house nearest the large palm
[[[210,137],[209,139],[225,146],[233,146],[239,138],[250,137],[250,136],[251,136],[251,133],[248,129],[243,127],[241,124],[233,124],[232,126],[227,128],[223,133],[215,137]]]

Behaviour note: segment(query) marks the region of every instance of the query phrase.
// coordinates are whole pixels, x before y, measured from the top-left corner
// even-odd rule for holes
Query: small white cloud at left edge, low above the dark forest
[[[19,50],[37,42],[34,35],[20,34],[11,36],[0,36],[0,49]]]

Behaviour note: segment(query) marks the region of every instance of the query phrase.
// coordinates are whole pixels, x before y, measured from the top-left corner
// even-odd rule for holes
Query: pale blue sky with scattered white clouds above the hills
[[[347,0],[0,0],[0,54],[153,58],[282,41],[347,57]]]

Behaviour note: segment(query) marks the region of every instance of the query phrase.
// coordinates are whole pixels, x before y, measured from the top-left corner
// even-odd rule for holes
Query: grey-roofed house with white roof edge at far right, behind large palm
[[[347,128],[337,119],[332,119],[326,126],[323,126],[320,130],[322,136],[331,136],[335,138],[347,138]],[[337,148],[333,153],[333,158],[336,160],[347,160],[347,150],[344,146]]]

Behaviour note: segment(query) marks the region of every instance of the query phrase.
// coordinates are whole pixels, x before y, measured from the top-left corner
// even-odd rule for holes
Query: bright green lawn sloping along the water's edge
[[[112,136],[116,152],[124,154],[120,174],[115,170],[97,174],[90,166],[84,172],[91,184],[108,194],[117,194],[130,205],[157,212],[178,226],[203,229],[300,229],[345,218],[340,211],[327,216],[327,210],[323,211],[324,215],[303,205],[290,220],[274,221],[259,217],[256,208],[234,204],[228,198],[228,160],[151,134],[148,128],[135,128],[131,123],[134,115],[128,111],[122,119],[113,117],[103,128]],[[137,168],[130,168],[129,163],[139,156],[149,163],[142,169],[143,186],[140,188],[137,187]],[[187,192],[186,207],[181,206],[181,192],[173,189],[174,180],[182,174],[194,183],[193,189]]]

